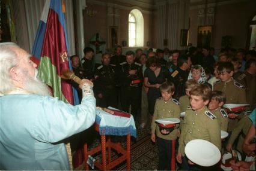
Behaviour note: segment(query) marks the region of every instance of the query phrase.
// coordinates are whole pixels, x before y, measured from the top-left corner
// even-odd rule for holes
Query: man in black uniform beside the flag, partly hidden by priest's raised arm
[[[80,59],[77,55],[73,55],[70,57],[70,60],[71,60],[71,63],[72,63],[72,69],[73,69],[73,72],[75,73],[75,75],[81,79],[84,79],[85,78],[85,71],[83,68],[81,68],[81,65],[80,65]],[[82,100],[82,90],[81,88],[79,88],[78,86],[78,83],[75,83],[75,81],[72,81],[71,83],[75,88],[76,90],[78,91],[78,98],[79,98],[79,102],[81,103],[81,100]]]

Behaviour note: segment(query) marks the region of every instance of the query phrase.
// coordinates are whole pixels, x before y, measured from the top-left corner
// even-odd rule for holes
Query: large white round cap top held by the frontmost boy
[[[213,166],[221,159],[217,146],[203,139],[189,141],[185,146],[185,154],[190,161],[204,167]]]

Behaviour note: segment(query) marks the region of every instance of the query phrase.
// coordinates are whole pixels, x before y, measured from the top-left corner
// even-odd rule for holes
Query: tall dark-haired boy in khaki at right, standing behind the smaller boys
[[[220,63],[218,66],[220,81],[215,82],[213,90],[222,91],[226,94],[226,103],[245,104],[245,86],[233,79],[234,66],[230,62]],[[243,115],[228,114],[230,118],[228,132],[231,132]]]

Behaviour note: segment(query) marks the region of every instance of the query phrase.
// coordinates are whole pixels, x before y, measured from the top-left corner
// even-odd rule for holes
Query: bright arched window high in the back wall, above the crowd
[[[134,9],[129,14],[129,47],[144,46],[144,19],[141,11]]]

